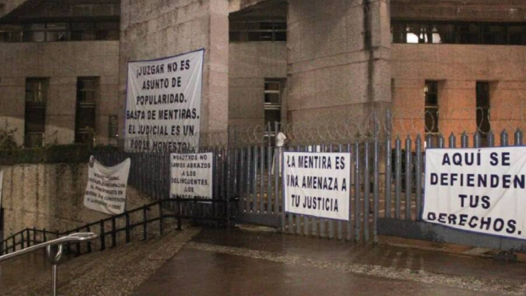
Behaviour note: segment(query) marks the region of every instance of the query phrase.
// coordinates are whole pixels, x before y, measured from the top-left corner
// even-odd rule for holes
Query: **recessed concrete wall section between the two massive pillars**
[[[229,125],[263,125],[264,82],[286,79],[286,42],[232,42],[229,47]],[[281,116],[286,120],[283,93]]]

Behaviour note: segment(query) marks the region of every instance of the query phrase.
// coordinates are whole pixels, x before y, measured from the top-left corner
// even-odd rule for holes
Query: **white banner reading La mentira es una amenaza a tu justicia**
[[[284,152],[285,211],[349,221],[350,153]]]

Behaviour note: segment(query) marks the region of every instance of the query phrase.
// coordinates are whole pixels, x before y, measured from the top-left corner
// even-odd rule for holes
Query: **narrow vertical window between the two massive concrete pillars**
[[[264,91],[265,126],[270,125],[266,136],[276,136],[276,123],[281,122],[281,82],[267,79]]]

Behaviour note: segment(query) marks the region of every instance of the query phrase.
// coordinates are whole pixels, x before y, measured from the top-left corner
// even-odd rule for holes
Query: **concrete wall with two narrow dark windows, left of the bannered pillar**
[[[0,125],[17,129],[23,144],[25,82],[49,77],[45,143],[75,140],[77,77],[100,79],[97,143],[108,143],[108,119],[117,115],[118,41],[0,43]]]

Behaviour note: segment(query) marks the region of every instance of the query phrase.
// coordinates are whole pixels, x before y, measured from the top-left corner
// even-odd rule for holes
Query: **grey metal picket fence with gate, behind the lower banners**
[[[379,235],[394,235],[526,251],[520,241],[513,243],[480,234],[459,235],[454,230],[441,230],[421,222],[425,149],[521,146],[523,132],[517,128],[512,135],[506,130],[483,134],[477,127],[474,132],[442,135],[439,130],[426,134],[422,125],[425,114],[418,116],[411,125],[404,125],[410,126],[409,130],[395,127],[397,120],[401,120],[400,114],[397,117],[386,110],[381,116],[379,112],[362,116],[361,124],[345,121],[276,124],[234,127],[216,136],[208,134],[208,140],[201,140],[201,147],[192,151],[213,153],[213,199],[229,202],[187,203],[182,210],[184,217],[214,217],[228,212],[227,217],[235,217],[237,223],[267,225],[288,234],[364,242],[376,242]],[[284,147],[275,146],[272,136],[278,132],[288,138]],[[284,212],[280,163],[283,151],[351,153],[349,221]],[[101,151],[95,156],[107,166],[131,158],[129,185],[154,200],[162,200],[170,194],[172,152],[186,151]]]

